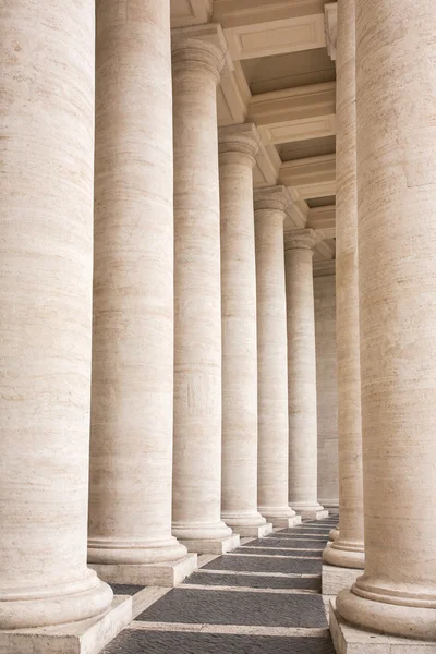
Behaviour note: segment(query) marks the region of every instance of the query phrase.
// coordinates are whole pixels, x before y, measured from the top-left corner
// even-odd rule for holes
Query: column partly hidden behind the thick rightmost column
[[[335,543],[324,550],[323,558],[332,566],[363,568],[354,0],[338,2],[336,52],[336,331],[340,535],[332,538]]]

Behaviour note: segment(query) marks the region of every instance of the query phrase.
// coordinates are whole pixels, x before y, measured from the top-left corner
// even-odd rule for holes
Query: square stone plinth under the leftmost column
[[[104,616],[40,629],[0,630],[1,654],[96,654],[132,620],[132,597],[119,595]]]

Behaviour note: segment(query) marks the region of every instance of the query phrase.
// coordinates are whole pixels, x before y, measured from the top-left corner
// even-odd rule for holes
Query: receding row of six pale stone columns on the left
[[[96,16],[95,44],[90,0],[0,10],[1,629],[102,615],[100,579],[322,509],[314,234],[284,259],[256,129],[218,143],[222,31],[171,45],[162,0]]]

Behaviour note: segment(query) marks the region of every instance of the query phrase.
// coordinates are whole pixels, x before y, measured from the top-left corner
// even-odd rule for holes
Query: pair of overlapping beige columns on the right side
[[[338,0],[340,529],[324,559],[363,569],[337,596],[349,625],[434,641],[436,14],[411,9]]]

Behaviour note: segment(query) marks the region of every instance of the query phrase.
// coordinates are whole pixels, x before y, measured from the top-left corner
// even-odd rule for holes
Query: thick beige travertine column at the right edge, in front
[[[366,560],[337,606],[436,640],[435,3],[358,0],[356,16]]]

